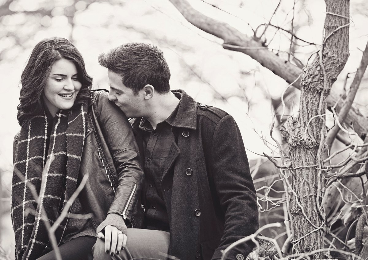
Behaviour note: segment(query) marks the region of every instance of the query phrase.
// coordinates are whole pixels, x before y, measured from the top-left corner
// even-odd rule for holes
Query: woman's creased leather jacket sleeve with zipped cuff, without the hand
[[[109,101],[107,92],[100,93],[96,112],[118,175],[116,195],[107,213],[131,220],[144,181],[138,145],[128,118]]]

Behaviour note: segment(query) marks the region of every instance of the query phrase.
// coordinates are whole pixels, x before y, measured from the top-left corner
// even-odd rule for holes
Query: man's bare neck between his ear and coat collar
[[[147,117],[153,129],[156,129],[157,124],[166,120],[173,113],[179,101],[172,92],[158,97],[152,107],[153,112],[151,116]]]

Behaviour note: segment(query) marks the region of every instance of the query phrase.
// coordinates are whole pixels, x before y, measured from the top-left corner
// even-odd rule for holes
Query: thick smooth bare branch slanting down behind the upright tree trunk
[[[263,67],[268,68],[274,74],[283,78],[287,83],[294,82],[302,73],[299,67],[272,53],[272,51],[262,46],[262,43],[258,40],[244,35],[244,33],[241,33],[225,22],[205,16],[192,8],[188,1],[170,0],[170,2],[192,25],[223,39],[224,49],[240,51],[247,54],[258,61]],[[300,89],[300,78],[293,83],[293,86]],[[343,100],[337,102],[339,99],[340,95],[335,90],[332,90],[327,99],[327,107],[330,109],[336,105],[336,111],[340,111],[343,106]],[[357,132],[361,139],[365,138],[368,132],[368,120],[357,108],[354,106],[351,107],[345,122]]]

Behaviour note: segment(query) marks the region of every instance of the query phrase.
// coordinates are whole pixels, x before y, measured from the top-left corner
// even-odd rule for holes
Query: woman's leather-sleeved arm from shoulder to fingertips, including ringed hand
[[[140,165],[138,145],[128,118],[109,101],[107,92],[100,92],[98,95],[96,116],[113,155],[118,185],[106,220],[99,225],[97,232],[98,238],[105,239],[105,251],[113,255],[118,254],[127,241],[124,220],[130,220],[132,223],[134,206],[141,193],[144,174]],[[105,231],[105,235],[100,231]]]

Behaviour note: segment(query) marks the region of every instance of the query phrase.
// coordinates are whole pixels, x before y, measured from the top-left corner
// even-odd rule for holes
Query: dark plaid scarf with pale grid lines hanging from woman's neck
[[[68,218],[55,223],[74,193],[84,145],[87,105],[60,110],[52,121],[32,117],[17,144],[11,190],[11,214],[17,259],[33,260],[50,248],[47,224],[60,244]],[[51,133],[48,125],[53,124]],[[50,130],[49,130],[50,131]],[[46,151],[47,136],[50,145]],[[51,248],[50,248],[51,249]]]

